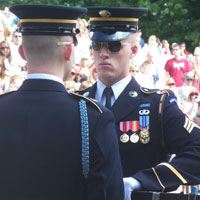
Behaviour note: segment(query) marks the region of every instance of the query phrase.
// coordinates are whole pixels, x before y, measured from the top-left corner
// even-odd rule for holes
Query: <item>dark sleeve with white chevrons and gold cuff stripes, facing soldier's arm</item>
[[[176,156],[171,162],[159,163],[133,175],[141,182],[142,190],[163,192],[183,184],[200,183],[200,129],[174,100],[169,92],[164,102],[163,130],[166,149]]]

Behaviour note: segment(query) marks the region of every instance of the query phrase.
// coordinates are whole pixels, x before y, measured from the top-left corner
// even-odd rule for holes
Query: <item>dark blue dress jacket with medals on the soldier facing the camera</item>
[[[80,93],[95,98],[96,88],[94,84]],[[141,88],[133,78],[111,111],[125,177],[136,178],[147,191],[200,183],[200,130],[178,108],[172,91]],[[166,161],[169,154],[176,154],[171,162]]]

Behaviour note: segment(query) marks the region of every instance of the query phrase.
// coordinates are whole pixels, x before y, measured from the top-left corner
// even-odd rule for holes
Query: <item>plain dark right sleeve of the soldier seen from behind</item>
[[[88,200],[123,200],[123,175],[115,130],[114,117],[105,110],[92,130]]]

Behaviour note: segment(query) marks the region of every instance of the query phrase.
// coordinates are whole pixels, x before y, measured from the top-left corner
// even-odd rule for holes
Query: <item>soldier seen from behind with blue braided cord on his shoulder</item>
[[[123,199],[112,112],[66,92],[86,8],[16,5],[28,77],[0,97],[0,199]]]

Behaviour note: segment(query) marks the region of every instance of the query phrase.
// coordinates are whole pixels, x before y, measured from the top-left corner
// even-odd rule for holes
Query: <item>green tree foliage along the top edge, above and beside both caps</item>
[[[186,42],[193,51],[200,40],[200,0],[1,0],[0,7],[15,4],[54,4],[65,6],[147,7],[140,26],[147,41],[152,34],[160,40]]]

